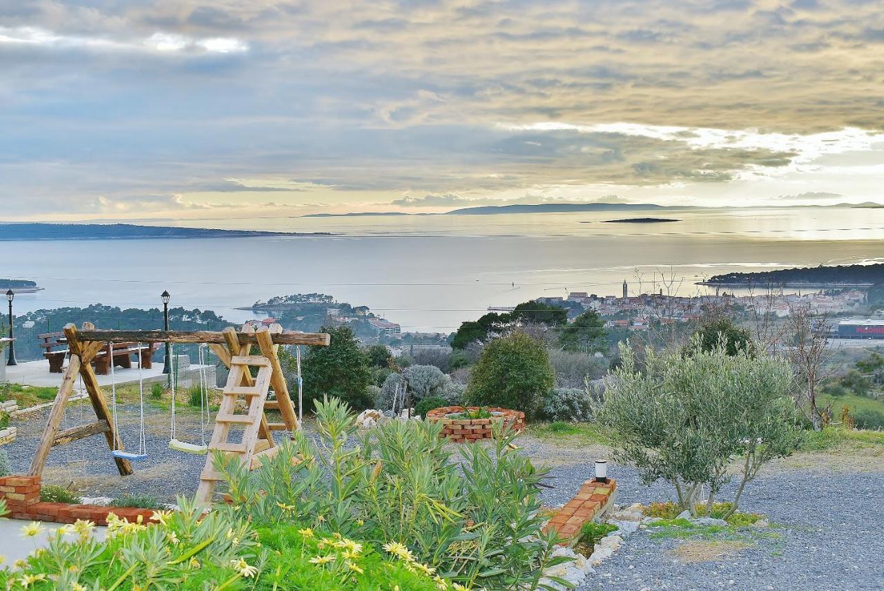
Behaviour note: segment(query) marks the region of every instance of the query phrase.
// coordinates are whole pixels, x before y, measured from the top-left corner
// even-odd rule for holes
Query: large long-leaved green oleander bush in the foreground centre
[[[216,453],[230,511],[397,549],[467,588],[537,588],[542,569],[562,562],[537,515],[543,474],[513,450],[511,432],[458,446],[455,458],[441,425],[385,421],[357,433],[337,399],[316,404],[316,429],[312,439],[296,432],[255,472]]]

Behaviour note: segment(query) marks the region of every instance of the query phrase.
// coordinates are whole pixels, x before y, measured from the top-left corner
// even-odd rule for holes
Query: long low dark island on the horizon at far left
[[[217,230],[135,224],[0,224],[0,240],[104,240],[104,239],[192,239],[299,236],[294,232]],[[331,236],[314,232],[311,236]]]

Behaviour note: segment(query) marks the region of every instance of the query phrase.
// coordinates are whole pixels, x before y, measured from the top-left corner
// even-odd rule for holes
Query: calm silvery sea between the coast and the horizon
[[[606,224],[655,216],[666,224]],[[155,222],[156,224],[156,222]],[[205,219],[215,228],[328,231],[331,237],[0,242],[0,277],[36,280],[17,312],[102,303],[233,308],[324,292],[370,306],[403,330],[456,329],[489,306],[568,291],[705,292],[733,270],[884,261],[884,209],[667,210],[645,213]],[[641,283],[639,283],[639,277]]]

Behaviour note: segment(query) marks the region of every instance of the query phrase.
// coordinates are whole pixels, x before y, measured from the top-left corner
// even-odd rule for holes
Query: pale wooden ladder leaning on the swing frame
[[[254,380],[249,367],[258,368]],[[196,490],[197,502],[210,504],[215,482],[224,480],[212,466],[212,451],[224,451],[229,456],[236,456],[248,469],[260,466],[262,458],[271,457],[279,451],[264,417],[264,403],[271,387],[272,373],[271,360],[263,355],[232,356],[230,375],[227,376],[221,405],[215,417],[206,466],[202,469],[200,486]],[[235,412],[240,398],[246,413]],[[231,427],[236,424],[245,425],[240,443],[228,441]]]

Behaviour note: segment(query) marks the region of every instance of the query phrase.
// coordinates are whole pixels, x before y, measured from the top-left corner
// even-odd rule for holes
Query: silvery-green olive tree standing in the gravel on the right
[[[735,511],[761,466],[800,443],[788,361],[730,355],[724,344],[704,350],[696,337],[687,352],[648,349],[642,367],[629,346],[620,352],[599,413],[613,432],[614,456],[636,466],[645,483],[670,482],[692,515],[704,487],[709,514],[731,474],[739,480]]]

